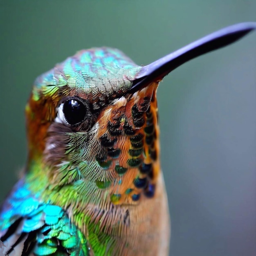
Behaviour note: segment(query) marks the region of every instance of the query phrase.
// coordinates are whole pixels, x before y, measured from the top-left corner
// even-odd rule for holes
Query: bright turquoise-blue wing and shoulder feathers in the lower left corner
[[[2,247],[6,247],[5,255],[13,251],[13,245],[21,237],[25,237],[27,243],[36,244],[36,256],[89,255],[87,240],[67,213],[61,207],[41,202],[39,197],[32,195],[23,180],[16,184],[2,206],[0,230]],[[9,236],[10,230],[13,234]]]

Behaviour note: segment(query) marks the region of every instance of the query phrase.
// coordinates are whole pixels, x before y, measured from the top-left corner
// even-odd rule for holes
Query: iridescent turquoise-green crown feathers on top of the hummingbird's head
[[[117,49],[107,47],[80,51],[67,58],[54,69],[39,76],[33,89],[33,97],[56,92],[67,93],[67,86],[77,93],[91,94],[93,100],[117,97],[130,89],[132,80],[141,67]]]

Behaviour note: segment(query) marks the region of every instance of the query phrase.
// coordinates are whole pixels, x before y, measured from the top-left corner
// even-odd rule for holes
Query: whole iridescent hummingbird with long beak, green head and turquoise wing
[[[226,27],[146,66],[118,49],[81,50],[39,76],[25,172],[0,208],[0,255],[167,256],[157,86],[254,29]]]

